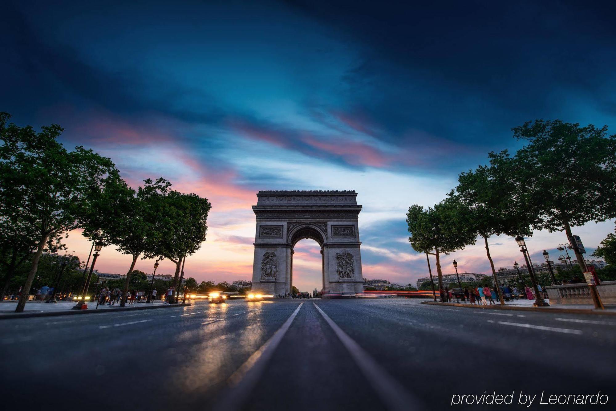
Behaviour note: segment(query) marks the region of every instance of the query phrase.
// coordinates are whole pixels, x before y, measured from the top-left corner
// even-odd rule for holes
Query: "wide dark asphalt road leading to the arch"
[[[110,410],[439,410],[457,395],[615,409],[616,317],[286,299],[0,320],[0,404]],[[540,405],[551,394],[606,405]],[[466,399],[468,401],[468,398]],[[505,406],[505,405],[501,405]],[[494,405],[492,407],[495,407]]]

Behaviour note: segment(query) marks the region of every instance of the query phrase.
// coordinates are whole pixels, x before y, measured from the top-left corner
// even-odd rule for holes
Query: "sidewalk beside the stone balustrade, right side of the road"
[[[545,299],[549,303],[549,299]],[[604,310],[595,309],[593,304],[552,304],[548,307],[534,307],[534,299],[514,299],[513,301],[505,301],[505,305],[501,306],[496,301],[494,305],[483,306],[480,304],[471,304],[468,301],[460,303],[435,303],[434,301],[422,301],[421,304],[431,304],[438,306],[453,306],[453,307],[468,307],[482,309],[497,309],[497,310],[517,310],[517,311],[534,311],[534,312],[560,312],[570,314],[600,314],[600,315],[616,315],[616,307],[607,306]]]

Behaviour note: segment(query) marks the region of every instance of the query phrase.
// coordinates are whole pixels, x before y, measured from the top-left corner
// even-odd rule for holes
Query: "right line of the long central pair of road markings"
[[[323,315],[323,318],[334,330],[334,333],[336,333],[342,345],[349,351],[357,367],[362,370],[363,375],[371,383],[376,394],[381,397],[381,401],[388,405],[387,409],[400,411],[424,409],[419,399],[408,393],[408,391],[389,375],[375,359],[370,357],[355,340],[342,331],[342,329],[338,327],[338,324],[333,322],[329,315],[325,314],[317,304],[312,304],[314,304],[318,312]]]

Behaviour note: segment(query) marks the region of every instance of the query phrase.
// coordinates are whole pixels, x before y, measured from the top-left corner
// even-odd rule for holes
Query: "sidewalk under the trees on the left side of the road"
[[[163,307],[177,307],[177,306],[190,306],[192,304],[164,304],[163,300],[156,300],[154,303],[137,303],[128,304],[125,307],[120,307],[120,303],[116,303],[113,306],[108,304],[99,305],[96,308],[96,301],[94,303],[87,303],[87,309],[85,310],[73,310],[76,301],[58,301],[53,303],[39,303],[38,301],[28,301],[23,309],[23,312],[15,312],[17,307],[17,300],[4,300],[0,301],[0,319],[15,318],[15,317],[46,317],[48,315],[71,315],[71,314],[94,314],[95,312],[111,312],[111,311],[127,311],[127,310],[139,310],[139,309],[153,309]]]

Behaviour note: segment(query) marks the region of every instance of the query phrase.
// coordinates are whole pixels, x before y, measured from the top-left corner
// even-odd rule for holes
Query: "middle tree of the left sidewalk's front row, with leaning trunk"
[[[111,176],[96,198],[95,212],[87,219],[84,235],[100,238],[105,243],[115,245],[121,253],[132,256],[121,307],[126,304],[131,275],[139,256],[145,253],[145,259],[150,254],[158,254],[156,247],[161,237],[158,222],[164,218],[160,203],[170,186],[171,183],[162,178],[156,181],[147,179],[142,187],[134,190],[120,177]]]

